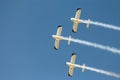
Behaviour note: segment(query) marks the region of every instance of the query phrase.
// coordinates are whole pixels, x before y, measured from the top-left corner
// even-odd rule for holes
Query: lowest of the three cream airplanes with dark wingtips
[[[71,61],[66,62],[66,65],[69,66],[68,76],[70,76],[70,77],[73,76],[74,68],[79,67],[79,65],[75,64],[75,60],[76,60],[76,54],[72,53]],[[83,64],[81,67],[82,67],[82,72],[84,72],[85,64]]]

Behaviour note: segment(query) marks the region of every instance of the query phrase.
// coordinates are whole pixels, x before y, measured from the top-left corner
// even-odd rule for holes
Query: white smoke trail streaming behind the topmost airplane
[[[86,23],[86,24],[88,23],[88,20],[80,20],[80,21],[83,22],[83,23]],[[110,24],[104,24],[104,23],[96,22],[96,21],[89,21],[89,23],[93,24],[93,25],[101,26],[101,27],[104,27],[104,28],[109,28],[109,29],[120,31],[120,27],[118,27],[118,26],[114,26],[114,25],[110,25]]]

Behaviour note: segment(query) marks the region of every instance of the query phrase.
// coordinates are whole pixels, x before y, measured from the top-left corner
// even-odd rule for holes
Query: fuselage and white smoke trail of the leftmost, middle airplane
[[[88,42],[88,41],[85,41],[85,40],[79,40],[79,39],[68,38],[68,37],[63,37],[63,36],[56,36],[56,37],[62,38],[63,40],[69,40],[69,41],[76,42],[76,43],[79,43],[79,44],[83,44],[83,45],[87,45],[87,46],[91,46],[91,47],[95,47],[95,48],[99,48],[99,49],[103,49],[103,50],[107,50],[107,51],[110,51],[110,52],[113,52],[113,53],[120,54],[120,50],[116,49],[114,47],[104,46],[104,45],[101,45],[101,44],[92,43],[92,42]]]

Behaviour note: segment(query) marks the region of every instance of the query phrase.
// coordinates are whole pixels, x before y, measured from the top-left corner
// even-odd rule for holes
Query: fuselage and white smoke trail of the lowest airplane
[[[82,65],[71,64],[69,62],[66,62],[66,64],[74,65],[75,67],[83,69]],[[88,66],[84,66],[84,69],[94,71],[94,72],[97,72],[97,73],[101,73],[101,74],[105,74],[105,75],[108,75],[108,76],[112,76],[112,77],[115,77],[115,78],[120,78],[120,74],[117,74],[117,73],[114,73],[114,72],[109,72],[109,71],[105,71],[105,70],[102,70],[102,69],[96,69],[96,68],[92,68],[92,67],[88,67]]]

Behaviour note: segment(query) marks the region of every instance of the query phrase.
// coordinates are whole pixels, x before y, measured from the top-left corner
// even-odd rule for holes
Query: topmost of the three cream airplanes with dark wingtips
[[[81,15],[81,8],[77,8],[76,14],[75,14],[75,18],[71,18],[71,21],[73,21],[73,29],[72,32],[76,33],[77,32],[77,28],[78,28],[78,24],[79,23],[83,23],[80,20],[80,15]],[[90,24],[90,19],[88,19],[87,23],[86,23],[86,27],[89,28],[89,24]]]

